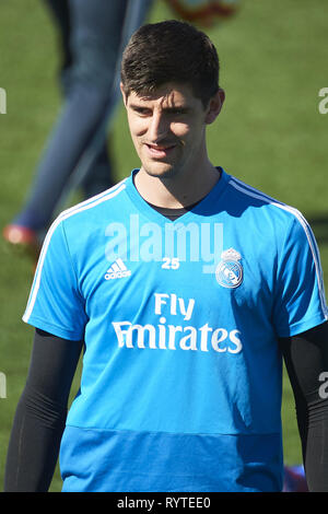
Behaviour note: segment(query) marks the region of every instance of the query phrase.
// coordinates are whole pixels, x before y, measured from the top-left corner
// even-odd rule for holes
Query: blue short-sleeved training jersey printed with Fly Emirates
[[[280,491],[279,337],[327,319],[302,214],[221,170],[169,221],[131,176],[65,212],[23,319],[84,339],[63,491]]]

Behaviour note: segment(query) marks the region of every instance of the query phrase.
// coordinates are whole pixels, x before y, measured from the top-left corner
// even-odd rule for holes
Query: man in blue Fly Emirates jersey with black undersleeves
[[[211,163],[224,91],[203,33],[141,27],[121,92],[141,167],[45,240],[7,490],[47,490],[60,448],[63,491],[281,491],[283,355],[308,486],[327,491],[328,313],[307,222]]]

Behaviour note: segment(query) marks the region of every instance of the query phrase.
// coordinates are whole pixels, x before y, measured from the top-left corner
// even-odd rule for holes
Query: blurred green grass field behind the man
[[[210,36],[221,56],[226,103],[209,130],[214,164],[300,209],[311,221],[321,253],[328,288],[328,114],[318,110],[318,92],[328,86],[328,3],[323,0],[241,0],[237,16]],[[156,0],[151,21],[172,17]],[[60,107],[56,73],[57,39],[43,3],[1,2],[0,225],[20,209],[47,135]],[[139,162],[125,113],[118,108],[110,143],[117,179]],[[13,255],[0,240],[0,490],[16,402],[24,386],[33,329],[21,322],[32,281],[31,261]],[[268,377],[270,379],[270,377]],[[74,387],[77,387],[78,377]],[[283,388],[286,464],[300,464],[294,405]],[[51,491],[61,487],[58,470]]]

